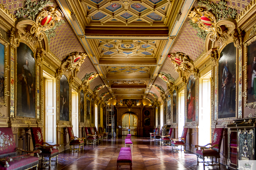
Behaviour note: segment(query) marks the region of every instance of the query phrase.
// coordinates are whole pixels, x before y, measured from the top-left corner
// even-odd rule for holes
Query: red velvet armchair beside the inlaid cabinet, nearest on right
[[[205,166],[215,166],[218,165],[220,168],[220,162],[219,162],[219,151],[221,148],[221,141],[222,141],[222,136],[223,136],[223,128],[216,128],[214,129],[213,135],[212,135],[212,143],[208,143],[205,146],[199,146],[199,145],[195,145],[196,148],[196,157],[197,157],[197,165],[199,164],[198,158],[203,159],[203,163],[204,165],[204,169]],[[211,147],[206,147],[211,145]],[[198,150],[198,148],[200,147],[200,150]],[[211,158],[211,162],[206,162],[204,161],[205,157],[209,157]],[[217,159],[218,158],[218,164],[214,164],[213,163],[213,158]],[[205,163],[207,165],[205,165]]]

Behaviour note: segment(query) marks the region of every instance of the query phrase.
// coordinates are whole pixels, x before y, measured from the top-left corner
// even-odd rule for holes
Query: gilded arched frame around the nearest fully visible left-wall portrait
[[[27,41],[25,41],[25,40],[23,40],[23,39],[19,39],[19,41],[20,41],[20,43],[18,44],[18,46],[17,46],[17,48],[16,48],[16,55],[15,55],[15,78],[16,78],[16,82],[15,82],[15,96],[16,96],[16,99],[15,99],[15,110],[16,110],[16,112],[15,112],[15,117],[16,118],[29,118],[29,119],[39,119],[39,109],[37,108],[37,107],[39,107],[38,106],[38,101],[39,101],[39,98],[38,98],[38,93],[39,93],[39,76],[40,76],[40,74],[39,74],[39,66],[38,66],[38,63],[36,62],[36,50],[30,45],[30,43],[28,43]],[[18,48],[21,46],[21,44],[25,44],[26,46],[28,46],[29,48],[30,48],[30,50],[31,50],[31,52],[33,52],[33,56],[32,56],[32,58],[34,59],[34,61],[35,61],[35,67],[34,67],[34,72],[35,72],[35,74],[34,74],[34,76],[35,76],[35,90],[37,91],[37,93],[35,93],[35,96],[34,96],[34,98],[35,98],[35,102],[34,102],[34,110],[35,110],[35,116],[34,117],[28,117],[28,116],[26,116],[26,115],[21,115],[20,113],[18,113],[17,112],[17,110],[18,110]],[[25,64],[24,64],[25,65]],[[20,72],[19,72],[20,73]],[[19,110],[20,110],[20,108],[19,108]],[[22,112],[23,113],[23,112]]]

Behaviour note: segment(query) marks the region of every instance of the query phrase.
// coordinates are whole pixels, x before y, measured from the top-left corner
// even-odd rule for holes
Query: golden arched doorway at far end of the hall
[[[137,135],[138,118],[134,112],[127,112],[122,116],[122,135]],[[129,133],[130,132],[130,133]]]

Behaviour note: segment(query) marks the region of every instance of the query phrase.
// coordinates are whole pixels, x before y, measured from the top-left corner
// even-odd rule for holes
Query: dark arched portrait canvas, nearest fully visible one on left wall
[[[35,59],[24,43],[17,48],[17,116],[35,118]]]

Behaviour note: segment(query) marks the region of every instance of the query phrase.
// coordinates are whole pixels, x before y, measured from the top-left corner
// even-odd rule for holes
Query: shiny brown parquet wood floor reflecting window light
[[[59,162],[52,167],[39,165],[39,170],[116,170],[116,160],[123,138],[103,139],[96,145],[86,145],[79,151],[66,150],[59,153]],[[196,163],[196,155],[178,151],[174,153],[170,146],[160,146],[150,138],[132,137],[132,169],[133,170],[203,170],[203,163]],[[219,170],[218,166],[206,167],[206,170]],[[221,165],[221,170],[226,169]],[[129,170],[129,166],[121,166],[121,170]]]

